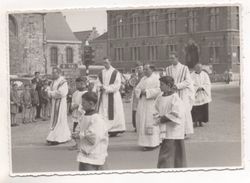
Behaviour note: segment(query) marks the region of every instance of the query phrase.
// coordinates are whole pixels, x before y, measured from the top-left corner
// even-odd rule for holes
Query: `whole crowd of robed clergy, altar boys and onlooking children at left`
[[[194,133],[194,127],[209,121],[208,74],[200,63],[190,73],[176,53],[170,54],[170,60],[171,65],[161,74],[155,72],[153,65],[138,62],[128,81],[138,146],[142,151],[160,148],[157,168],[186,167],[185,139]],[[47,144],[54,146],[73,140],[75,144],[69,150],[78,151],[79,170],[103,170],[109,138],[126,131],[120,94],[122,76],[108,58],[103,59],[103,65],[96,83],[90,83],[87,77],[76,78],[70,102],[67,102],[69,86],[60,68],[53,68],[50,85],[36,72],[31,89],[25,85],[20,98],[16,84],[12,84],[11,125],[17,125],[15,115],[20,106],[24,124],[50,117]]]

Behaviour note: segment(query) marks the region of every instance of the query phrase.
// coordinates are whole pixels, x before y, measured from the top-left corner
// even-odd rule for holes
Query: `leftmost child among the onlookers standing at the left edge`
[[[10,88],[10,113],[11,126],[18,126],[16,122],[16,114],[19,112],[20,98],[17,93],[17,84],[13,83]]]

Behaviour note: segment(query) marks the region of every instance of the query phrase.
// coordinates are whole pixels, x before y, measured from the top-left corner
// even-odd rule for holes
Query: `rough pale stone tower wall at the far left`
[[[10,74],[44,73],[43,15],[13,14],[9,21]]]

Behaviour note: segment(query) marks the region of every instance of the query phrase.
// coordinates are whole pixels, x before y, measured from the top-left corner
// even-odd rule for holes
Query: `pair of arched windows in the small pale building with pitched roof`
[[[58,65],[58,48],[50,48],[50,62],[52,66]],[[73,49],[71,47],[66,48],[66,63],[73,63],[74,59]]]

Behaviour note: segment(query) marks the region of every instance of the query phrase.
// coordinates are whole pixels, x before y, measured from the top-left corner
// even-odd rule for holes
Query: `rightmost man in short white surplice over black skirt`
[[[194,82],[195,101],[192,109],[192,118],[194,126],[203,126],[202,123],[207,123],[208,103],[212,101],[211,98],[211,82],[208,74],[202,71],[200,63],[195,65],[195,71],[191,73],[191,78]]]

